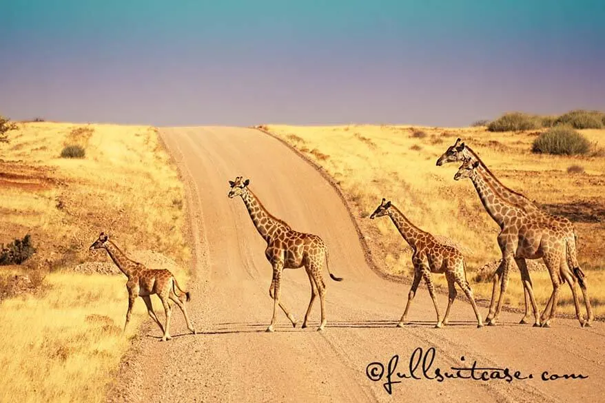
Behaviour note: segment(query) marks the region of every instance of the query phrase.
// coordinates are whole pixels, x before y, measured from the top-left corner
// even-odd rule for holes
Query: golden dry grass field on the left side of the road
[[[10,382],[0,386],[0,401],[101,402],[146,313],[137,304],[124,337],[125,278],[72,269],[107,261],[88,251],[102,230],[128,254],[151,249],[184,267],[183,186],[151,127],[21,123],[10,137],[0,145],[0,242],[31,234],[52,271],[38,292],[1,302],[8,340],[0,377]],[[85,146],[86,158],[60,158],[65,143]],[[175,274],[186,283],[183,269]]]

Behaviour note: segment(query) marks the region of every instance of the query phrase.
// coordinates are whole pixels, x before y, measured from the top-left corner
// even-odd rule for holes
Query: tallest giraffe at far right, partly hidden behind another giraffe
[[[473,161],[479,161],[479,166],[476,168],[480,172],[484,174],[484,178],[487,183],[494,189],[494,192],[498,193],[498,195],[503,198],[506,203],[514,204],[522,209],[528,214],[528,216],[534,220],[540,220],[544,223],[548,223],[554,227],[559,227],[564,231],[566,243],[568,247],[567,255],[567,264],[573,269],[573,273],[577,281],[580,283],[580,289],[582,290],[582,296],[584,298],[584,303],[586,304],[586,311],[588,312],[588,325],[590,325],[591,320],[593,320],[594,316],[592,313],[592,307],[590,298],[588,298],[588,290],[586,288],[586,280],[584,271],[580,268],[580,264],[577,261],[577,234],[575,232],[575,228],[573,227],[573,223],[565,217],[561,216],[553,216],[552,214],[548,214],[546,211],[537,207],[535,203],[526,198],[523,194],[517,193],[512,189],[504,186],[498,178],[496,178],[493,173],[489,170],[489,168],[485,165],[485,163],[479,158],[479,156],[471,149],[471,147],[461,143],[461,139],[457,138],[455,143],[447,148],[447,150],[440,156],[437,160],[437,165],[441,166],[444,163],[451,162],[462,162],[464,163],[465,159],[471,158]],[[517,266],[519,264],[524,265],[524,260],[515,260],[517,262]],[[521,267],[520,271],[521,270]],[[530,280],[531,283],[531,280]],[[521,319],[520,323],[527,323],[529,318],[529,293],[527,290],[524,291],[525,297],[525,314]]]

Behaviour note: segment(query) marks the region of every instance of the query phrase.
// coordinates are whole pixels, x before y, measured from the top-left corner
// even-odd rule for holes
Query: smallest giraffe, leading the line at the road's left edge
[[[134,301],[136,300],[136,297],[141,297],[143,298],[143,301],[145,301],[145,305],[147,305],[147,313],[149,313],[149,316],[152,318],[152,320],[154,320],[154,322],[156,322],[163,332],[161,341],[167,341],[172,338],[170,337],[170,316],[172,313],[172,308],[170,307],[170,302],[168,301],[169,299],[172,300],[183,312],[185,322],[187,322],[187,329],[189,329],[189,331],[191,331],[193,334],[196,334],[196,331],[189,321],[189,316],[187,316],[185,303],[181,300],[181,298],[185,296],[186,300],[189,301],[191,299],[190,294],[188,291],[185,292],[181,289],[181,287],[178,287],[178,282],[176,282],[176,278],[174,278],[170,271],[166,269],[148,270],[141,263],[130,260],[119,249],[119,247],[117,247],[116,244],[110,240],[109,236],[103,232],[101,232],[101,234],[99,234],[99,238],[97,238],[97,240],[90,245],[89,250],[93,251],[94,249],[101,248],[107,251],[107,254],[109,254],[116,266],[128,278],[128,281],[126,282],[126,289],[128,291],[128,311],[126,312],[124,331],[126,331],[128,322],[130,322],[130,315],[132,313]],[[181,296],[178,296],[176,289],[181,291]],[[165,327],[162,327],[162,324],[154,312],[151,300],[151,296],[153,294],[158,295],[164,306],[164,311],[166,314]]]

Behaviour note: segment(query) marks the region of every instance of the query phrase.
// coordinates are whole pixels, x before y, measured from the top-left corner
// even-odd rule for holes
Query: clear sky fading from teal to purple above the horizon
[[[178,3],[3,5],[0,114],[459,126],[605,110],[603,1]]]

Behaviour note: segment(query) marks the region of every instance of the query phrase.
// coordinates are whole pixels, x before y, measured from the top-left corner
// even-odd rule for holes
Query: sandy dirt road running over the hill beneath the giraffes
[[[196,267],[189,314],[199,334],[186,334],[174,311],[170,342],[158,342],[156,327],[143,329],[116,381],[110,400],[121,402],[597,402],[605,392],[605,327],[582,329],[559,319],[551,329],[519,325],[518,313],[503,313],[498,327],[476,329],[466,300],[457,300],[453,322],[433,329],[435,312],[420,286],[411,308],[413,324],[395,327],[409,285],[383,280],[366,264],[356,231],[334,189],[285,145],[255,130],[191,127],[163,130],[167,147],[187,180],[192,206]],[[298,231],[321,236],[330,268],[343,282],[327,279],[327,328],[293,329],[283,313],[276,333],[271,318],[271,267],[265,242],[243,201],[229,199],[228,180],[251,180],[265,207]],[[382,195],[376,195],[380,200]],[[387,218],[382,218],[387,219]],[[327,278],[327,273],[325,273]],[[518,281],[512,278],[511,281]],[[286,270],[282,300],[302,319],[309,302],[304,269]],[[447,296],[440,295],[442,311]],[[482,316],[486,309],[481,308]],[[150,322],[150,321],[149,321]],[[400,379],[384,388],[388,362],[409,374],[416,348],[435,348],[428,371],[454,367],[509,368],[525,380]],[[464,361],[461,357],[464,356]],[[367,366],[381,362],[380,381]],[[378,370],[380,366],[377,366]],[[422,367],[422,364],[420,364]],[[544,371],[588,375],[541,380]],[[379,372],[379,371],[378,371]],[[376,373],[377,377],[380,373]],[[470,371],[462,371],[470,376]],[[475,376],[480,376],[476,371]]]

